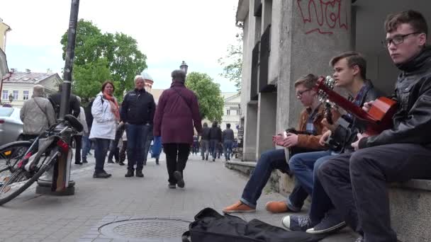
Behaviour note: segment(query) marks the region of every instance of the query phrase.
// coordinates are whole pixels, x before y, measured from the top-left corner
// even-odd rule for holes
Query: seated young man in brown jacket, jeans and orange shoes
[[[289,132],[283,139],[283,142],[277,142],[290,149],[291,154],[304,151],[315,151],[324,149],[319,144],[320,137],[326,129],[323,127],[321,121],[323,120],[324,108],[320,105],[317,94],[313,91],[313,87],[317,82],[317,76],[308,74],[302,76],[295,82],[296,96],[298,100],[306,107],[301,113],[299,120],[298,130],[303,134],[295,134]],[[273,138],[276,143],[276,137]],[[289,166],[284,154],[286,149],[275,149],[266,151],[262,154],[250,179],[245,185],[242,192],[240,201],[235,204],[225,207],[223,212],[255,212],[257,200],[262,194],[264,186],[267,184],[269,177],[275,169],[283,173],[289,173]],[[306,200],[308,194],[300,185],[293,188],[293,192],[286,201],[276,202],[276,204],[269,202],[266,208],[269,212],[299,212]]]

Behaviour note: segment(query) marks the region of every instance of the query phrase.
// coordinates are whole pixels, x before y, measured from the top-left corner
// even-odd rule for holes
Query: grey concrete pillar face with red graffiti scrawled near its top
[[[338,0],[332,6],[323,1],[283,1],[277,129],[298,124],[303,107],[296,98],[296,79],[308,73],[332,74],[331,57],[352,50],[350,3]]]

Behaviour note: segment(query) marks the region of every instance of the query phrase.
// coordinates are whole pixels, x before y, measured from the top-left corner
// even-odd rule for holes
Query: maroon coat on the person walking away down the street
[[[202,132],[198,98],[184,83],[173,82],[157,103],[154,136],[162,136],[163,144],[193,144],[194,127]]]

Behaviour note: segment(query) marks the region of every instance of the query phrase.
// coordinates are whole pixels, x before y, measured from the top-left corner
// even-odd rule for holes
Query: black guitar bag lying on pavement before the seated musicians
[[[219,214],[209,207],[194,217],[181,237],[183,242],[316,242],[325,235],[286,231],[258,219],[245,221],[230,214]]]

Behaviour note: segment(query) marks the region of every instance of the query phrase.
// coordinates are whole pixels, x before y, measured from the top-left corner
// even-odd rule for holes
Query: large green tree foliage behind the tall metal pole
[[[67,31],[61,39],[63,59],[67,48]],[[138,50],[138,43],[123,33],[101,33],[91,21],[80,19],[74,53],[74,93],[91,98],[99,93],[100,84],[111,79],[115,95],[121,100],[123,92],[133,88],[135,75],[147,68],[147,57]]]

